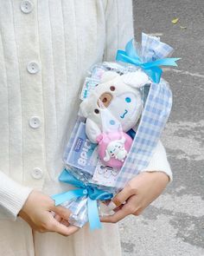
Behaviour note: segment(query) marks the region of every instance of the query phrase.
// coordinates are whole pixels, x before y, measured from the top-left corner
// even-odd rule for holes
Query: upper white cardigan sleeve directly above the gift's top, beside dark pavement
[[[105,7],[105,61],[114,61],[118,49],[124,49],[134,37],[131,0],[107,0]]]

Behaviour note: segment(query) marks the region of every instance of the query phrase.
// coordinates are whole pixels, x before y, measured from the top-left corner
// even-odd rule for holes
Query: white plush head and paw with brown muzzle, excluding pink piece
[[[133,128],[143,110],[139,88],[148,82],[148,75],[140,70],[125,75],[105,72],[101,83],[80,104],[88,138],[96,142],[102,132]]]

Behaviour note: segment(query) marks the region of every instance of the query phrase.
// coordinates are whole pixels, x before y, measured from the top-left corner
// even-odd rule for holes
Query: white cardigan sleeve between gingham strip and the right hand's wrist
[[[169,181],[173,180],[169,161],[167,160],[166,150],[161,141],[158,141],[155,152],[153,153],[149,165],[141,172],[163,172],[169,176]]]

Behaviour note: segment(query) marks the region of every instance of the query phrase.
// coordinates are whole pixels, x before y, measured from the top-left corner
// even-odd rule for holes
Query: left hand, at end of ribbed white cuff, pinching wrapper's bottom
[[[38,191],[29,194],[18,215],[29,223],[32,229],[40,233],[55,232],[68,236],[80,228],[70,226],[68,218],[71,212],[65,207],[55,207],[54,200]]]

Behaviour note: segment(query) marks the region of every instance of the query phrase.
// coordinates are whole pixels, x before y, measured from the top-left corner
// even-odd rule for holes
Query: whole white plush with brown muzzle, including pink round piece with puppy
[[[143,111],[139,89],[148,83],[149,76],[141,69],[124,75],[106,71],[98,86],[81,102],[86,135],[99,143],[99,156],[105,165],[122,167],[132,143],[126,132],[136,126]]]

